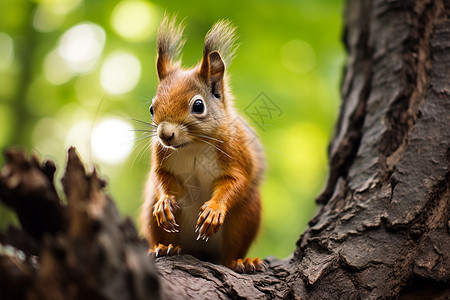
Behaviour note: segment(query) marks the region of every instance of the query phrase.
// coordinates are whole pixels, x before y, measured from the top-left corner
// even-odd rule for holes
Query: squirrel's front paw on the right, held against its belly
[[[209,237],[219,231],[225,218],[225,207],[217,202],[208,201],[200,208],[200,214],[195,227],[198,231],[197,240],[208,241]]]

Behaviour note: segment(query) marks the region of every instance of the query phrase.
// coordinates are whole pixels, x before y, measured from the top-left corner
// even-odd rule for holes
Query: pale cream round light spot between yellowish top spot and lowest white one
[[[136,87],[141,77],[141,63],[126,52],[109,55],[102,65],[100,82],[110,94],[123,94]]]

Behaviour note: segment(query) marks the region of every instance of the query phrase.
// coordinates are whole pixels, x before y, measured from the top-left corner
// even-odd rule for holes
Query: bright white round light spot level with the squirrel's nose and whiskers
[[[117,165],[123,162],[133,149],[133,127],[119,119],[103,119],[94,127],[91,144],[96,160]]]

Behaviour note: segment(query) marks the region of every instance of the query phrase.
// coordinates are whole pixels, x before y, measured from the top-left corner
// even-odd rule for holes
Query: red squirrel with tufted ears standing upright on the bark
[[[260,227],[265,159],[233,107],[226,67],[236,50],[235,27],[215,23],[201,62],[190,69],[176,61],[182,32],[168,17],[158,29],[142,233],[155,257],[186,253],[240,273],[264,271],[259,258],[243,259]]]

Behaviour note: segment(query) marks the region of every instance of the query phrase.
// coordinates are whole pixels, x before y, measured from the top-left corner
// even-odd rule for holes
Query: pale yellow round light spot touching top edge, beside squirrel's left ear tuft
[[[131,41],[143,41],[153,37],[157,25],[157,9],[150,2],[122,1],[111,15],[111,26],[114,30]]]

